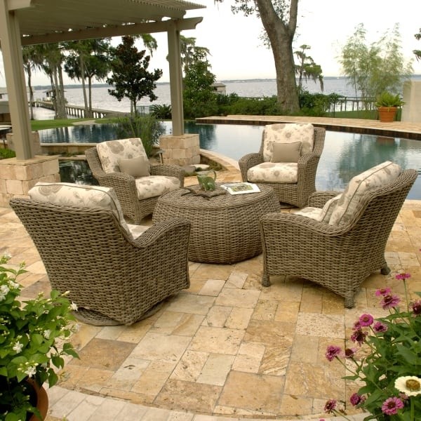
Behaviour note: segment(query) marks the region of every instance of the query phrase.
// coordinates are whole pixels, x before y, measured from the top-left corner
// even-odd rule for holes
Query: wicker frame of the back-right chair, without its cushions
[[[247,154],[239,159],[241,179],[244,182],[250,181],[247,178],[247,171],[251,167],[264,162],[264,135],[265,131],[262,133],[262,142],[260,144],[260,150],[257,154]],[[323,151],[325,135],[326,130],[324,128],[314,128],[313,151],[309,154],[301,156],[298,160],[298,182],[259,182],[259,184],[265,184],[272,187],[280,202],[289,203],[293,206],[297,206],[298,208],[307,206],[310,194],[316,191],[316,170],[317,166],[319,165],[321,152]]]

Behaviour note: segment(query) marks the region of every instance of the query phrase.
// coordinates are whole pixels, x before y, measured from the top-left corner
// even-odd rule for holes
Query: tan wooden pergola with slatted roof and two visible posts
[[[0,0],[0,41],[17,159],[34,157],[22,46],[167,32],[173,135],[184,133],[180,31],[203,18],[184,0]]]

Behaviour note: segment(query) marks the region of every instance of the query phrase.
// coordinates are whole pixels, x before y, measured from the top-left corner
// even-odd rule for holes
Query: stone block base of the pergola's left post
[[[39,181],[60,181],[58,156],[0,159],[0,207],[8,208],[13,197],[29,198],[29,189]]]

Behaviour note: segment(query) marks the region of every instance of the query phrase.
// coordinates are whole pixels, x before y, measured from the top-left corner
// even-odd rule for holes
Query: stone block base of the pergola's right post
[[[159,147],[163,149],[163,163],[187,166],[200,163],[199,135],[163,135],[159,139]]]

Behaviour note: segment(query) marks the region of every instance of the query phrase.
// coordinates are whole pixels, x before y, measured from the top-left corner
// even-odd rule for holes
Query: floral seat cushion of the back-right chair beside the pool
[[[263,162],[248,169],[250,182],[298,182],[298,163]]]

